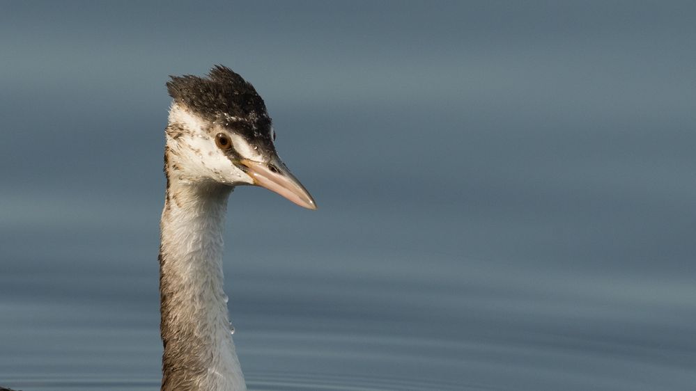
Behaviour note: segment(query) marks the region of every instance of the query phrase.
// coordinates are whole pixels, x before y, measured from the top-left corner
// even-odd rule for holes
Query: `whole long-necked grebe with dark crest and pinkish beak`
[[[261,186],[317,209],[274,147],[254,86],[223,65],[170,76],[164,131],[167,179],[160,221],[162,391],[242,391],[223,289],[223,227],[236,186]]]

